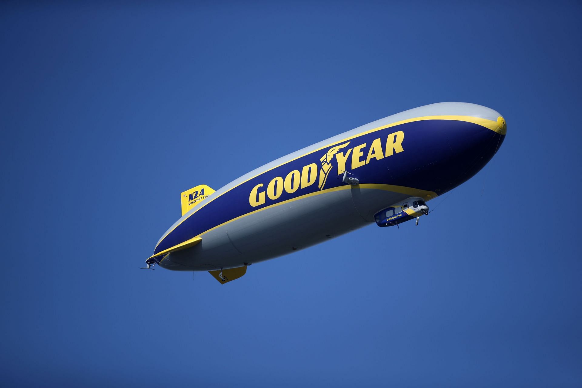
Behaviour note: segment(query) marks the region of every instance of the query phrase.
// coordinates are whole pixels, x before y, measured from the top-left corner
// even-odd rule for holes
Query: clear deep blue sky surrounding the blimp
[[[580,2],[0,6],[3,386],[582,386]],[[498,154],[396,228],[139,269],[296,149],[441,101]],[[430,145],[428,145],[430,146]]]

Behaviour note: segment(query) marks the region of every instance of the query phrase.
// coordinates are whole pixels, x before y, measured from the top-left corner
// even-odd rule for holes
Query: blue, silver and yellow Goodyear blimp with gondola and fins
[[[418,225],[431,200],[491,160],[506,128],[494,109],[440,102],[299,149],[219,190],[198,184],[180,194],[182,217],[144,268],[208,271],[224,284],[366,225]]]

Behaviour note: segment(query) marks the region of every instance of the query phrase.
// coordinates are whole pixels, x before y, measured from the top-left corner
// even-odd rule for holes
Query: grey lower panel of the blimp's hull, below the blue
[[[286,255],[368,225],[375,212],[407,197],[355,186],[267,208],[204,234],[196,247],[172,253],[169,259],[187,267],[170,269],[233,268]]]

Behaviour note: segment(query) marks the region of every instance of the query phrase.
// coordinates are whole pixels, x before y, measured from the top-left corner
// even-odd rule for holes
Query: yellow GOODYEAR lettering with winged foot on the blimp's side
[[[276,176],[269,181],[266,189],[263,183],[257,184],[249,194],[249,204],[252,207],[264,205],[267,203],[267,198],[269,202],[275,203],[283,194],[283,190],[289,194],[293,194],[299,190],[296,197],[307,194],[307,191],[302,193],[302,190],[315,183],[318,171],[318,188],[323,190],[329,173],[333,170],[332,162],[334,157],[336,160],[335,164],[337,165],[337,173],[340,175],[346,171],[346,163],[348,161],[350,161],[349,170],[353,171],[372,161],[388,158],[388,156],[404,151],[402,148],[403,141],[404,132],[397,131],[389,134],[386,138],[378,137],[372,140],[369,147],[367,143],[363,143],[353,148],[346,148],[350,145],[351,141],[334,145],[319,159],[321,166],[318,166],[316,163],[310,163],[303,166],[301,171],[292,170],[285,176],[285,179],[281,176]],[[367,156],[364,157],[364,154]],[[349,159],[350,156],[351,159]]]

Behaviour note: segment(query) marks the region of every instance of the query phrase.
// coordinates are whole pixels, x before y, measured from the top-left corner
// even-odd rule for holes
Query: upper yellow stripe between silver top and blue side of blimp
[[[499,119],[502,119],[503,124],[499,123]],[[416,122],[416,121],[424,121],[424,120],[456,120],[456,121],[464,121],[464,122],[468,122],[468,123],[478,124],[478,125],[480,125],[482,127],[485,127],[485,128],[490,129],[492,131],[495,131],[496,133],[505,134],[505,131],[504,131],[504,129],[505,129],[505,120],[503,120],[503,118],[501,118],[501,117],[498,118],[497,121],[493,121],[493,120],[487,120],[487,119],[482,119],[482,118],[476,118],[476,117],[473,117],[473,116],[423,116],[423,117],[418,117],[418,118],[413,118],[413,119],[406,119],[406,120],[402,120],[402,121],[395,122],[395,123],[392,123],[392,124],[387,124],[387,125],[384,125],[384,126],[381,126],[381,127],[377,127],[377,128],[374,128],[374,129],[370,129],[370,130],[367,130],[367,131],[364,131],[364,132],[361,132],[361,133],[352,135],[350,137],[346,137],[343,140],[334,141],[333,143],[328,144],[328,145],[325,145],[324,147],[320,147],[320,148],[317,148],[317,149],[313,149],[313,150],[307,152],[307,154],[303,154],[303,155],[297,156],[296,158],[290,159],[289,161],[283,162],[283,163],[281,163],[281,164],[279,164],[279,165],[277,165],[275,167],[272,167],[272,168],[270,168],[270,169],[268,169],[266,171],[263,171],[261,173],[258,173],[257,175],[255,175],[253,177],[250,177],[249,179],[247,179],[247,180],[245,180],[245,181],[237,184],[234,187],[229,188],[224,193],[222,193],[220,195],[217,195],[216,197],[211,198],[210,200],[207,200],[207,201],[203,202],[202,204],[200,204],[196,208],[196,210],[194,210],[194,212],[192,212],[189,216],[187,216],[186,218],[184,218],[178,225],[176,225],[171,230],[169,230],[168,232],[166,232],[164,234],[164,236],[162,236],[162,238],[159,240],[159,242],[161,243],[162,241],[164,241],[165,237],[168,236],[168,234],[172,233],[173,230],[176,229],[176,227],[180,226],[182,224],[182,222],[184,222],[185,220],[189,219],[190,216],[192,216],[193,214],[195,214],[197,211],[200,211],[200,209],[202,209],[206,205],[210,204],[210,202],[214,201],[215,199],[217,199],[221,195],[224,195],[224,194],[228,193],[230,190],[233,190],[234,188],[239,187],[241,184],[247,183],[249,180],[254,179],[254,178],[256,178],[259,175],[262,175],[262,174],[264,174],[266,172],[269,172],[269,171],[274,170],[274,169],[276,169],[278,167],[281,167],[282,165],[285,165],[285,164],[287,164],[289,162],[293,162],[294,160],[297,160],[299,158],[303,158],[303,156],[306,156],[306,155],[309,155],[309,154],[313,154],[314,152],[317,152],[317,151],[321,151],[324,148],[331,147],[333,144],[341,143],[342,141],[350,140],[350,139],[353,139],[355,137],[360,137],[360,136],[363,136],[365,134],[372,133],[372,132],[375,132],[375,131],[379,131],[379,130],[382,130],[382,129],[386,129],[386,128],[390,128],[390,127],[395,127],[395,126],[398,126],[398,125],[402,125],[402,124],[406,124],[406,123],[412,123],[412,122]],[[500,127],[500,125],[502,127]],[[360,185],[360,186],[364,186],[364,185]],[[386,186],[390,186],[390,185],[386,185]],[[325,190],[323,190],[323,191],[325,191]],[[284,202],[281,202],[281,203],[284,203]],[[204,233],[206,233],[206,232],[204,232]],[[155,248],[157,248],[158,245],[159,245],[159,243],[157,245],[155,245]],[[155,248],[154,248],[154,250],[155,250]]]

